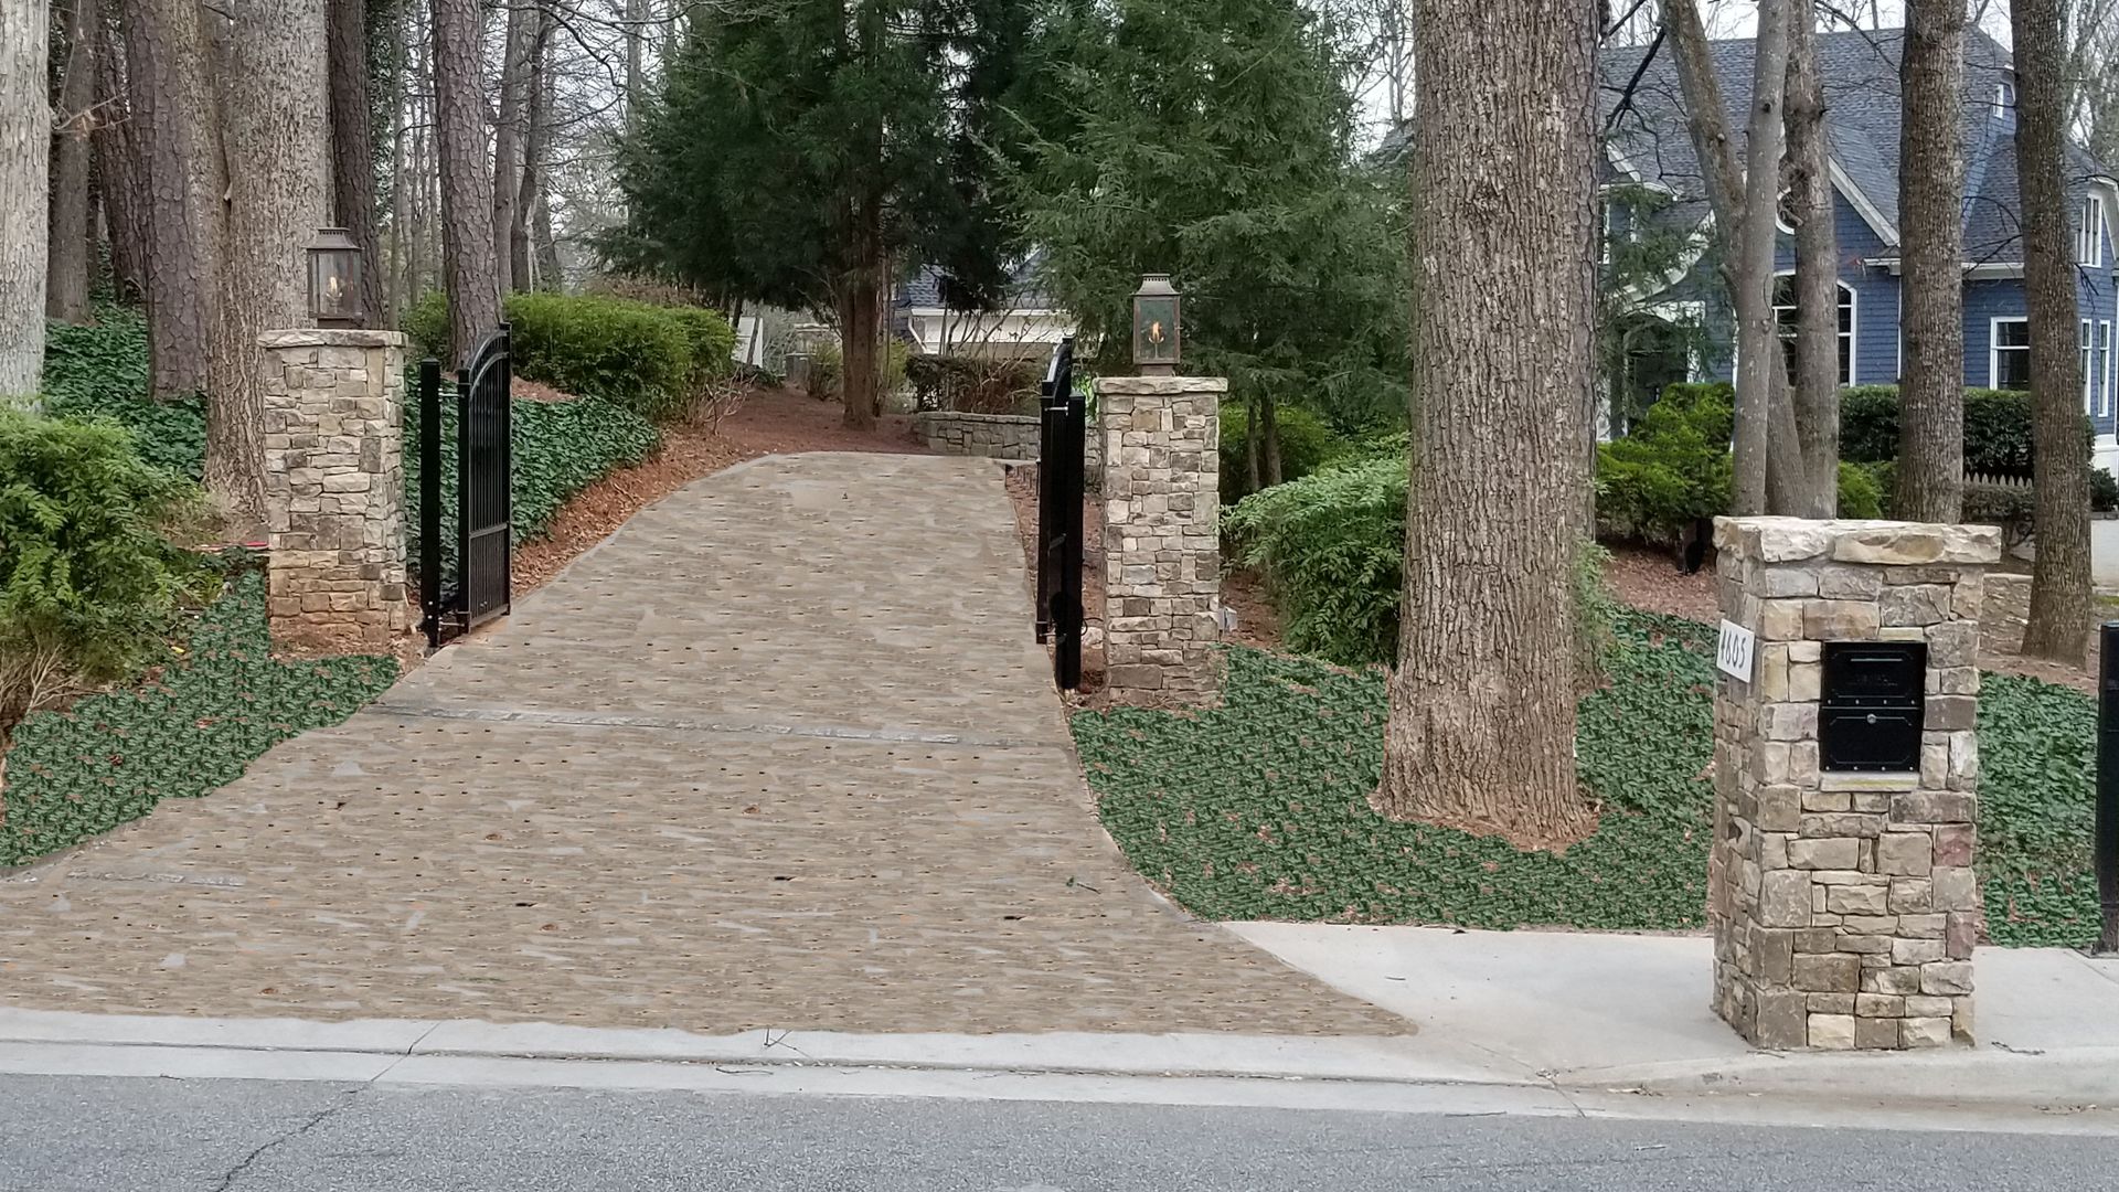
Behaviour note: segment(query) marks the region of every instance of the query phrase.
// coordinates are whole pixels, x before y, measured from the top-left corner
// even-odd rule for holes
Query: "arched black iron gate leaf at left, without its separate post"
[[[509,611],[513,409],[509,325],[485,337],[456,373],[456,532],[464,630]]]

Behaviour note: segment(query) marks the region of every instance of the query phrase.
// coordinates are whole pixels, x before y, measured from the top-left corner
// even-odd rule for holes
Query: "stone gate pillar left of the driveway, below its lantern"
[[[405,337],[267,331],[265,532],[273,636],[379,647],[405,592]]]

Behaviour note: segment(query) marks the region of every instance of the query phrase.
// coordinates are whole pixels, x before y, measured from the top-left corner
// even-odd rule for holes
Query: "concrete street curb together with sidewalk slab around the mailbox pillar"
[[[710,1035],[551,1022],[316,1022],[0,1007],[0,1071],[509,1082],[519,1077],[496,1075],[492,1065],[515,1065],[553,1084],[680,1086],[695,1082],[701,1065],[723,1065],[752,1075],[928,1073],[949,1088],[973,1088],[962,1086],[966,1073],[1081,1077],[1091,1088],[1127,1080],[1163,1080],[1172,1088],[1197,1080],[1318,1082],[1339,1088],[1333,1105],[1379,1109],[1426,1103],[1447,1111],[1485,1105],[1481,1111],[1714,1118],[1778,1105],[1780,1114],[1837,1124],[1892,1114],[2058,1114],[2072,1118],[2077,1130],[2119,1130],[2113,1118],[2119,961],[1990,948],[1979,954],[1977,1046],[1771,1054],[1750,1050],[1708,1014],[1704,937],[1290,923],[1201,925],[1201,931],[1231,946],[1242,946],[1231,933],[1240,935],[1424,1029],[1418,1035],[1227,1027],[1119,1033],[1070,1031],[1060,1018],[1007,1033]],[[1212,1018],[1216,1007],[1204,1001],[1197,1012]],[[1127,1097],[1157,1094],[1142,1086]],[[1653,1105],[1632,1105],[1640,1099]]]

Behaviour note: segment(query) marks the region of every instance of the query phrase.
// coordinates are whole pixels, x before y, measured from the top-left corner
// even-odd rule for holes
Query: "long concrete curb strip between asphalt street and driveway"
[[[1528,1071],[1424,1037],[1299,1035],[858,1035],[297,1018],[172,1018],[0,1007],[0,1071],[19,1048],[172,1048],[337,1058],[911,1069],[1089,1077],[1310,1080],[1524,1088],[1564,1094],[1875,1101],[1899,1107],[2119,1105],[2119,1048],[1771,1054]]]

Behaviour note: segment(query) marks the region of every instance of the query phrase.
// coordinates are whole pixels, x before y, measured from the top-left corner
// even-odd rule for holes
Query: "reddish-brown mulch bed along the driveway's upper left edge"
[[[517,382],[523,384],[523,382]],[[538,386],[551,392],[549,386]],[[517,388],[517,397],[523,390]],[[564,395],[530,401],[566,401]],[[797,390],[752,388],[744,405],[708,431],[691,422],[661,428],[661,448],[642,464],[619,469],[574,494],[545,537],[515,549],[515,594],[545,585],[576,556],[608,539],[627,518],[687,484],[729,464],[786,452],[901,452],[926,454],[911,437],[911,420],[882,418],[873,431],[850,431],[837,401]]]

